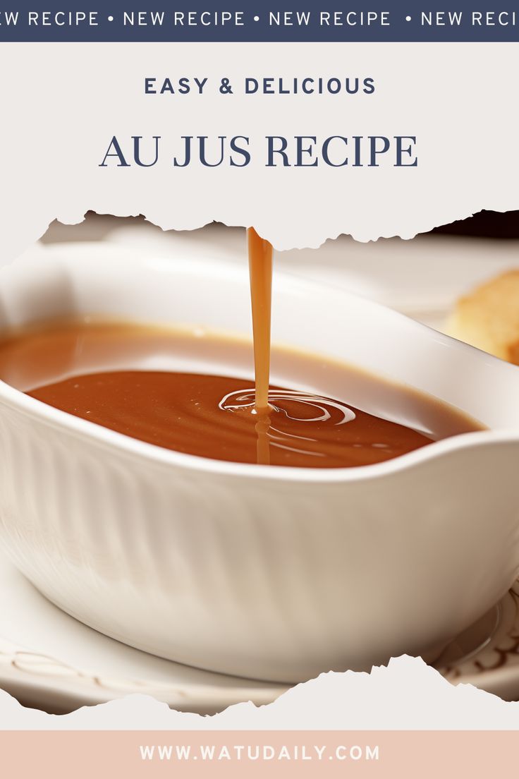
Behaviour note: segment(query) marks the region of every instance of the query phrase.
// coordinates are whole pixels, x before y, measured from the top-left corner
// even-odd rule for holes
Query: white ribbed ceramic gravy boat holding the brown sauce
[[[61,245],[2,271],[1,326],[95,314],[248,337],[247,285],[245,263]],[[0,382],[2,545],[65,612],[185,664],[298,682],[437,656],[519,570],[519,371],[289,275],[275,275],[273,314],[278,343],[489,429],[365,467],[251,466],[127,438]]]

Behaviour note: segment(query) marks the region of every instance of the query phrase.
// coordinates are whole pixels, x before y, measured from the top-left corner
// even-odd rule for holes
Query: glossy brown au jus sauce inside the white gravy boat
[[[268,414],[259,414],[247,342],[201,330],[82,322],[0,342],[0,378],[37,400],[216,460],[369,465],[482,428],[422,393],[295,351],[272,349],[272,375]]]

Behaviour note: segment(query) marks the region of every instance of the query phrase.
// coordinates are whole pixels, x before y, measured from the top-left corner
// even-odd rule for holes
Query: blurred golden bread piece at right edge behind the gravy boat
[[[446,332],[519,365],[519,270],[510,270],[460,298]]]

